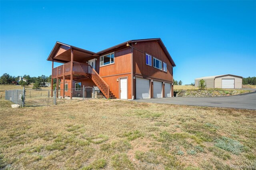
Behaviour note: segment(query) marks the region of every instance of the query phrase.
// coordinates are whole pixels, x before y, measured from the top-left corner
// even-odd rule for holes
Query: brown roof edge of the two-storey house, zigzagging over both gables
[[[168,59],[170,60],[170,62],[172,63],[172,66],[176,66],[176,64],[174,63],[170,53],[168,52],[168,50],[166,49],[164,43],[162,42],[161,38],[149,38],[149,39],[140,39],[140,40],[129,40],[127,42],[123,42],[123,43],[120,43],[118,45],[115,45],[115,46],[112,46],[110,48],[107,48],[107,49],[104,49],[102,51],[99,51],[97,53],[94,53],[92,51],[88,51],[88,50],[85,50],[85,49],[82,49],[82,48],[78,48],[78,47],[75,47],[75,46],[72,46],[72,45],[68,45],[68,44],[65,44],[65,43],[62,43],[62,42],[56,42],[50,55],[48,56],[47,60],[48,61],[52,61],[52,58],[54,57],[54,54],[58,51],[59,47],[61,45],[64,45],[66,47],[69,47],[69,48],[73,48],[73,49],[76,49],[76,50],[79,50],[79,51],[82,51],[82,52],[85,52],[85,53],[90,53],[91,55],[93,56],[99,56],[100,54],[106,52],[106,51],[109,51],[109,50],[112,50],[112,49],[115,49],[115,48],[118,48],[118,47],[121,47],[123,45],[126,45],[127,43],[133,43],[133,42],[146,42],[146,41],[157,41],[160,46],[162,47],[164,53],[166,54],[166,56],[168,57]]]

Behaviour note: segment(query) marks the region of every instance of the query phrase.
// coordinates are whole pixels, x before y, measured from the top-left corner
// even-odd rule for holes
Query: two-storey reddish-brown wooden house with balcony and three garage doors
[[[173,96],[176,65],[160,38],[130,40],[97,53],[56,42],[47,60],[52,61],[52,82],[61,79],[62,97],[93,86],[111,99]],[[54,62],[64,64],[54,68]]]

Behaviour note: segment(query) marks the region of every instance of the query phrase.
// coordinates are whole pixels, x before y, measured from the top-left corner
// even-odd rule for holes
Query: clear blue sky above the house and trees
[[[0,75],[50,75],[56,41],[98,52],[161,38],[174,79],[256,76],[256,1],[0,1]]]

